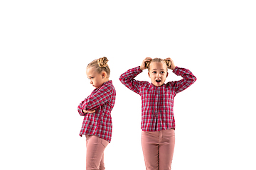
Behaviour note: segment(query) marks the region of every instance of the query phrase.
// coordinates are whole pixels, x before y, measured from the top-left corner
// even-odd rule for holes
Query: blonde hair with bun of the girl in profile
[[[88,67],[94,67],[96,71],[100,74],[102,71],[107,73],[107,77],[110,77],[110,67],[107,64],[107,57],[101,57],[99,59],[93,60],[87,65]]]

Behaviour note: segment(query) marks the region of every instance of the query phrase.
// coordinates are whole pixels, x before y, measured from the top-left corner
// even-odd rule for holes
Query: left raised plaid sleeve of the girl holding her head
[[[141,72],[142,70],[139,67],[129,69],[127,72],[124,72],[124,74],[119,77],[119,80],[122,82],[122,84],[124,84],[124,86],[127,86],[128,89],[139,94],[139,87],[144,84],[144,81],[137,81],[134,78],[137,77],[137,75]]]

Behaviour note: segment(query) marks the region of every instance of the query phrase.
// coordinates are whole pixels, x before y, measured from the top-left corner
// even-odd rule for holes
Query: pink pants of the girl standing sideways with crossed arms
[[[105,169],[104,150],[109,144],[107,140],[103,140],[95,135],[86,136],[86,169],[102,170]]]

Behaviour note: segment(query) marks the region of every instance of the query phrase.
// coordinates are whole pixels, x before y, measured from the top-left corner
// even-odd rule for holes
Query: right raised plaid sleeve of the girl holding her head
[[[179,81],[171,82],[172,86],[174,87],[174,90],[176,91],[176,94],[187,89],[189,86],[191,86],[191,84],[193,84],[196,81],[196,77],[188,69],[175,67],[173,72],[177,76],[183,77],[183,79]]]

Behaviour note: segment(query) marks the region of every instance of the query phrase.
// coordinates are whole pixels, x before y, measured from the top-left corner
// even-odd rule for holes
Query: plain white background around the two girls
[[[254,1],[1,1],[0,169],[85,169],[78,104],[107,57],[107,169],[145,169],[140,96],[119,76],[171,57],[198,78],[174,101],[172,169],[256,169]],[[181,79],[170,72],[166,81]],[[137,77],[150,81],[145,70]]]

